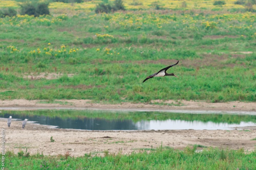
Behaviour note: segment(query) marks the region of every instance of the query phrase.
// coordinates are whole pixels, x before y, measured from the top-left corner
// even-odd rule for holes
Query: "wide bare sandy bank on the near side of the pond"
[[[244,130],[165,130],[165,131],[85,131],[54,129],[47,125],[27,123],[22,129],[22,121],[12,120],[7,127],[7,119],[0,119],[0,127],[5,129],[6,150],[15,153],[26,148],[30,154],[82,156],[85,153],[104,155],[121,152],[139,152],[142,148],[156,148],[161,144],[177,149],[188,145],[200,144],[219,148],[244,148],[252,151],[256,148],[255,127]],[[55,142],[50,142],[53,136]],[[198,148],[202,149],[202,148]]]

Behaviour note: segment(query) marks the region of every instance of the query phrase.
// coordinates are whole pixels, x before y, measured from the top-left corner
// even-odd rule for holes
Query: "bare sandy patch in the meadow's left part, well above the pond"
[[[45,73],[45,72],[41,72],[41,73],[32,73],[32,74],[28,74],[25,73],[27,75],[23,76],[24,79],[31,79],[31,80],[37,80],[37,79],[47,79],[47,80],[52,80],[52,79],[57,79],[62,77],[64,74],[63,73]],[[74,74],[67,74],[68,77],[73,77]]]

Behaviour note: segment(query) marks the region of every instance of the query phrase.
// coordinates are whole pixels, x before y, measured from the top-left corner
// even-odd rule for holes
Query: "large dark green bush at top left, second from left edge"
[[[49,15],[49,3],[48,2],[38,2],[31,1],[25,2],[21,5],[21,15],[34,15],[38,17],[39,15]]]

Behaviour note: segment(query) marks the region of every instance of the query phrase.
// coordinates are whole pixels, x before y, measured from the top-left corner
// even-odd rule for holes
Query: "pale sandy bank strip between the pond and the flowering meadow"
[[[44,100],[0,100],[0,110],[36,110],[36,109],[105,109],[105,110],[127,110],[127,111],[172,111],[184,112],[203,111],[203,112],[250,112],[256,114],[255,102],[225,102],[225,103],[208,103],[205,101],[161,101],[154,100],[151,103],[166,103],[169,105],[156,105],[145,103],[121,103],[121,104],[102,104],[92,103],[90,100],[55,100],[66,104],[58,103],[39,103],[47,102]],[[178,106],[179,105],[179,106]],[[186,111],[185,111],[186,112]]]

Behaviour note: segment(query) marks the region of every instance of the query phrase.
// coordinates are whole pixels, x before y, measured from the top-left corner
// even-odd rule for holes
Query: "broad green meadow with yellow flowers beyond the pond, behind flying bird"
[[[68,3],[60,14],[62,6],[51,7],[55,3],[50,16],[0,19],[0,99],[256,101],[256,17],[227,10],[233,1],[207,10],[149,6],[110,14]],[[168,71],[179,78],[142,84],[177,60]],[[49,74],[56,79],[47,79]]]

